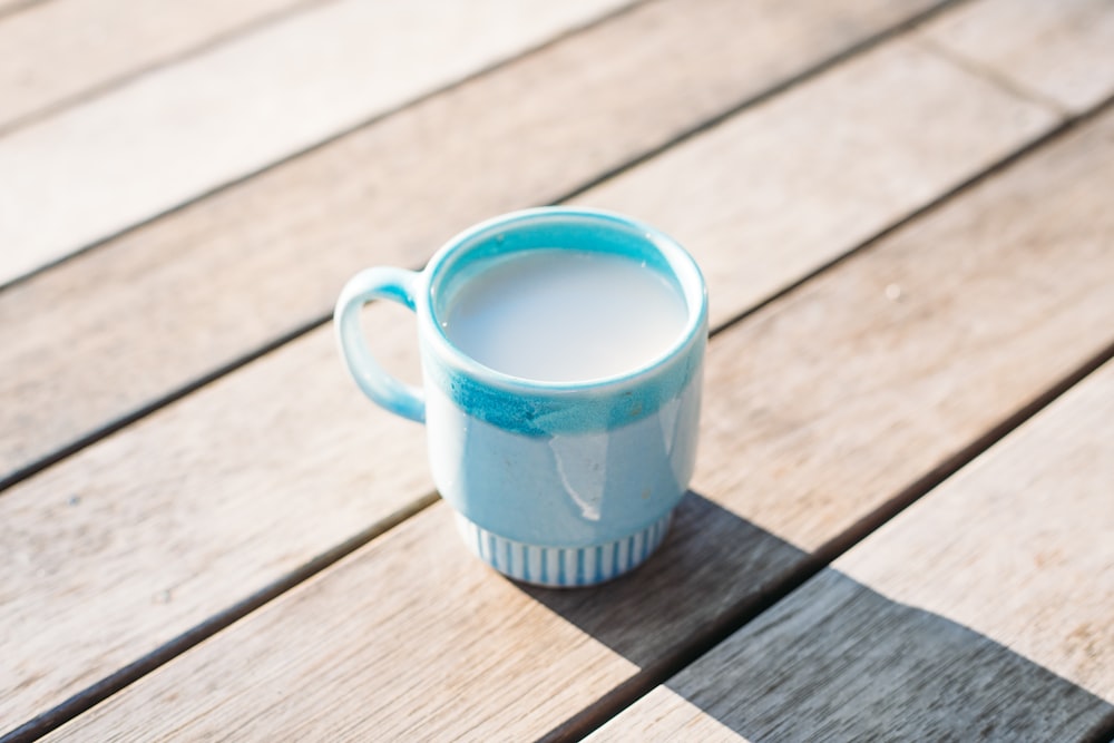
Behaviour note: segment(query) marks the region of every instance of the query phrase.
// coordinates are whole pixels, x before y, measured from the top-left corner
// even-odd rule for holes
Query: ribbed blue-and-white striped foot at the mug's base
[[[499,573],[522,583],[550,588],[594,586],[646,561],[665,538],[673,514],[642,531],[590,547],[539,547],[506,539],[460,514],[457,528],[468,548]]]

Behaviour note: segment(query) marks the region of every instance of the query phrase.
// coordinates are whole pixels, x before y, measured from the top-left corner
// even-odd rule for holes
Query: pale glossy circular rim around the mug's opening
[[[676,340],[670,346],[646,362],[619,374],[598,377],[574,381],[546,381],[517,377],[492,369],[480,363],[461,351],[446,334],[444,327],[437,320],[434,303],[439,282],[446,281],[441,275],[447,263],[485,245],[499,233],[515,226],[531,222],[568,222],[584,221],[600,226],[619,227],[628,234],[636,235],[657,250],[665,261],[672,278],[677,283],[688,311],[685,325]],[[528,248],[527,248],[528,250]],[[624,383],[637,381],[667,364],[671,360],[683,355],[686,348],[703,334],[707,323],[707,286],[704,276],[693,256],[682,245],[663,233],[623,214],[590,207],[543,206],[509,212],[480,222],[451,237],[426,264],[422,274],[421,302],[416,310],[424,315],[423,320],[432,326],[431,338],[439,355],[451,361],[458,371],[465,372],[476,381],[506,390],[538,393],[583,392],[614,388]]]

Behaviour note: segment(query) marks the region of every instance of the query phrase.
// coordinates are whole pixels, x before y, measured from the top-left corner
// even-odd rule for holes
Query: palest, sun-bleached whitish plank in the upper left
[[[628,1],[340,0],[9,134],[0,283]]]

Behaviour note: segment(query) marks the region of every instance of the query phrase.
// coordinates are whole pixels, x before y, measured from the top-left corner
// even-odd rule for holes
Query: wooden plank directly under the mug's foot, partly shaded
[[[873,56],[879,70],[912,53],[895,46]],[[392,739],[465,725],[519,740],[659,667],[799,569],[802,548],[838,537],[1111,342],[1114,256],[1096,235],[1114,227],[1102,196],[1114,168],[1095,155],[1112,131],[1106,116],[716,336],[695,481],[705,497],[685,501],[663,553],[629,579],[520,589],[463,559],[437,505],[63,733],[248,724]],[[165,716],[138,714],[152,705]]]

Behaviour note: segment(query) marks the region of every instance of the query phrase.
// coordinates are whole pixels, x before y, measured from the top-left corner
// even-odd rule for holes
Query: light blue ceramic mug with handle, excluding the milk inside
[[[492,257],[555,247],[659,272],[686,313],[668,350],[618,375],[546,382],[485,366],[449,340],[456,284]],[[417,314],[420,389],[389,375],[368,348],[360,309],[377,299]],[[450,239],[421,272],[356,274],[334,319],[360,389],[424,422],[433,481],[465,544],[490,566],[526,583],[586,586],[633,569],[661,544],[693,473],[707,344],[704,280],[673,239],[595,209],[507,214]]]

